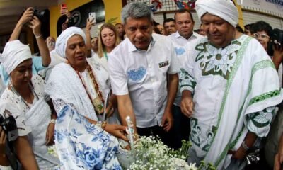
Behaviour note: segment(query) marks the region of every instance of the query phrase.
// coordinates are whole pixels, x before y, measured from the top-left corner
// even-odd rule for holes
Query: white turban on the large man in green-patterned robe
[[[200,21],[204,13],[210,13],[224,19],[233,27],[238,23],[238,9],[231,0],[197,0],[195,10]]]

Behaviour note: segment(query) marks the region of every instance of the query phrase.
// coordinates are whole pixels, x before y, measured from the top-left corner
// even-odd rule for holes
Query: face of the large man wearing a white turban
[[[208,40],[215,47],[226,47],[235,36],[235,28],[231,24],[210,13],[205,13],[202,16],[202,25]]]

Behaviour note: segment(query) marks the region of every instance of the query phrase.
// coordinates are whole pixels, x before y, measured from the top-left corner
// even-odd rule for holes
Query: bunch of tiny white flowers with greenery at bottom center
[[[190,146],[190,142],[183,140],[182,147],[174,151],[158,137],[141,136],[134,142],[134,148],[127,152],[126,158],[117,157],[122,168],[127,170],[215,170],[212,164],[204,162],[201,162],[199,167],[196,164],[187,164],[185,160]]]

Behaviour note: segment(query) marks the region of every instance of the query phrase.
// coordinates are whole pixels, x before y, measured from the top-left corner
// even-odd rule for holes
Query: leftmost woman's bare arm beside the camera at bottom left
[[[18,137],[13,142],[13,146],[16,149],[16,155],[23,169],[39,169],[35,160],[35,154],[33,154],[33,149],[30,146],[30,142],[28,142],[28,136]]]

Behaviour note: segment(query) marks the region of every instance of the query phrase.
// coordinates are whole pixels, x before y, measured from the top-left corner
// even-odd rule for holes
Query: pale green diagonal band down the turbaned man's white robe
[[[238,71],[238,67],[240,66],[241,64],[241,61],[243,59],[243,55],[245,54],[246,52],[246,49],[248,47],[248,43],[250,42],[250,40],[252,40],[253,38],[251,37],[248,37],[246,38],[246,40],[244,40],[243,42],[243,45],[240,47],[240,49],[238,50],[238,54],[237,54],[237,58],[236,58],[236,61],[233,65],[233,68],[231,70],[231,73],[229,75],[229,78],[228,78],[228,81],[227,81],[227,84],[226,84],[226,88],[225,88],[225,92],[224,92],[224,97],[223,97],[223,100],[222,100],[222,103],[221,103],[221,108],[220,108],[220,111],[219,111],[219,117],[218,117],[218,120],[217,120],[217,125],[216,125],[216,131],[214,132],[215,136],[216,136],[216,132],[217,132],[217,129],[219,127],[219,124],[220,124],[220,120],[222,118],[222,114],[223,114],[223,111],[224,111],[224,106],[226,105],[226,100],[227,100],[227,96],[229,94],[229,90],[230,90],[230,87],[231,87],[231,84],[232,84],[232,81]],[[214,139],[215,139],[215,136],[213,137],[213,140],[212,140],[212,143],[214,142]],[[226,156],[227,152],[228,152],[228,149],[229,149],[229,145],[227,145],[224,149],[224,152],[222,152],[219,156],[219,158],[217,159],[217,161],[215,162],[215,166],[217,167],[219,165],[219,163],[221,162],[222,159],[224,159],[224,157]]]

